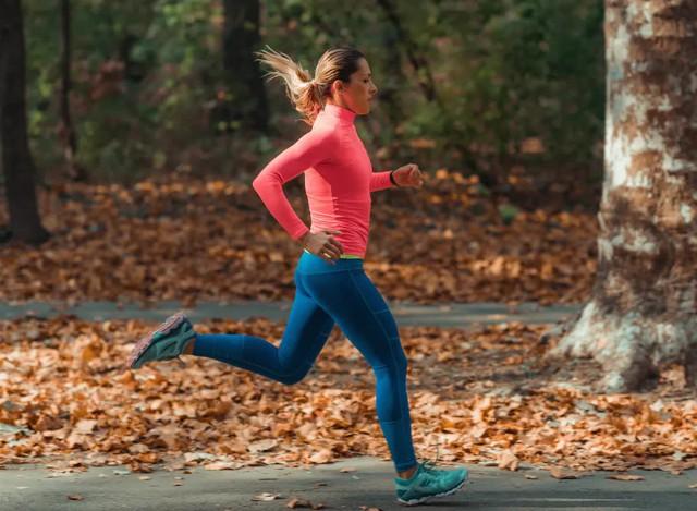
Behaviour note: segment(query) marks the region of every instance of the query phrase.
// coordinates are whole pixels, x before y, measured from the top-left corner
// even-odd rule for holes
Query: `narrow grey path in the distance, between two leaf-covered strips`
[[[236,302],[230,304],[199,303],[186,308],[178,302],[161,302],[149,308],[137,304],[117,306],[112,302],[84,302],[74,306],[58,303],[29,302],[25,304],[0,303],[0,319],[12,319],[27,314],[51,317],[60,313],[73,314],[83,319],[148,319],[161,321],[175,311],[185,309],[193,321],[210,318],[246,319],[253,316],[266,317],[274,321],[288,318],[290,302]],[[528,324],[551,324],[573,315],[579,305],[554,305],[542,307],[534,303],[524,303],[509,307],[498,303],[418,305],[411,303],[391,304],[392,313],[401,327],[437,326],[466,327],[476,324],[496,324],[523,321]]]

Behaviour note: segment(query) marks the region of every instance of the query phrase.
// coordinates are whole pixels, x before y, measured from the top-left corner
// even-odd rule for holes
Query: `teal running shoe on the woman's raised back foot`
[[[184,362],[179,357],[186,343],[196,337],[192,323],[183,313],[170,316],[157,330],[140,339],[131,355],[127,366],[138,369],[143,364],[152,361],[168,361],[176,358],[180,364]]]

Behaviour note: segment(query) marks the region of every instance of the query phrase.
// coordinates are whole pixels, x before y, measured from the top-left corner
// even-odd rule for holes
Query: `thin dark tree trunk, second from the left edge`
[[[85,170],[75,161],[77,153],[77,135],[70,113],[71,71],[71,9],[70,0],[61,0],[61,143],[68,163],[68,171],[74,181],[85,181]]]

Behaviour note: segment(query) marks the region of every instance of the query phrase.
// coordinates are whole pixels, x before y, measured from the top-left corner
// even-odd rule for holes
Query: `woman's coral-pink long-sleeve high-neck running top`
[[[252,186],[269,212],[297,240],[308,231],[341,231],[344,254],[365,257],[370,228],[370,193],[392,186],[390,172],[374,172],[358,137],[356,114],[327,104],[313,129],[273,158]],[[283,184],[305,172],[311,228],[293,210]]]

